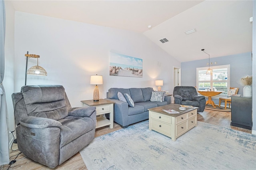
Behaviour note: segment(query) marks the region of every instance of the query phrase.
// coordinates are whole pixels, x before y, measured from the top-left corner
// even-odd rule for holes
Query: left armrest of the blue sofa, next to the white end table
[[[114,103],[114,121],[121,126],[128,126],[128,103],[116,99],[107,99]]]

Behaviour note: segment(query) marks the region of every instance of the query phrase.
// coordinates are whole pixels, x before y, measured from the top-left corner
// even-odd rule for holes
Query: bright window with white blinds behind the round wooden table
[[[196,86],[198,90],[215,88],[223,91],[220,95],[227,95],[230,88],[230,64],[221,66],[211,66],[212,74],[206,75],[208,67],[196,68]]]

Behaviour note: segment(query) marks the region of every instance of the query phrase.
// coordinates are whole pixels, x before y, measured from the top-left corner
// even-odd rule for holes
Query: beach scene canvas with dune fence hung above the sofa
[[[142,77],[142,59],[110,52],[109,75]]]

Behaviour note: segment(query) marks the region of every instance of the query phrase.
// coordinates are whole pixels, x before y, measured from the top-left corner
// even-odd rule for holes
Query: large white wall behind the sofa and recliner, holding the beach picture
[[[180,62],[168,55],[143,34],[62,20],[47,16],[15,12],[14,91],[24,86],[26,52],[38,54],[39,66],[48,76],[28,75],[27,85],[61,84],[73,107],[80,100],[91,100],[94,85],[90,75],[102,75],[100,98],[109,88],[153,87],[163,79],[163,90],[173,90],[173,68]],[[143,59],[143,78],[109,76],[109,52]],[[29,58],[28,68],[36,65]]]

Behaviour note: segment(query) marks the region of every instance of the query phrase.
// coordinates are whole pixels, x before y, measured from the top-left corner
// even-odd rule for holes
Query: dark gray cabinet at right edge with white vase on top
[[[252,98],[231,96],[231,126],[252,130]]]

